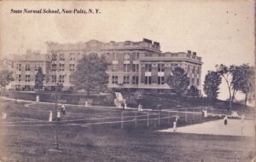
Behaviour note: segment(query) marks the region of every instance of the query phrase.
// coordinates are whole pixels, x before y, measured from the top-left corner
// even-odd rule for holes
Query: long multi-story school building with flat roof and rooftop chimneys
[[[16,66],[21,65],[25,73],[20,77],[22,70],[21,73],[19,69],[15,70],[18,80],[12,83],[13,87],[21,86],[20,90],[22,90],[25,85],[29,85],[32,90],[36,68],[40,64],[47,76],[45,87],[54,86],[55,82],[58,82],[68,89],[73,86],[70,76],[76,70],[79,59],[91,53],[105,55],[110,62],[109,88],[154,90],[163,93],[170,90],[166,79],[172,74],[172,68],[183,67],[188,73],[189,85],[195,85],[198,90],[201,90],[201,57],[191,51],[163,53],[160,51],[160,43],[148,39],[143,39],[141,42],[118,43],[113,41],[102,43],[96,40],[73,44],[53,43],[49,46],[46,55],[28,56],[26,59],[23,57],[22,61],[15,60]],[[30,74],[26,74],[28,73],[27,64],[34,67],[29,71]],[[30,82],[26,82],[26,75],[30,75]]]

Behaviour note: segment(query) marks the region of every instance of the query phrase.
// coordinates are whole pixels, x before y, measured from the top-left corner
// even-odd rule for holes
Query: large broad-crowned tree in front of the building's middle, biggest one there
[[[77,70],[73,72],[72,83],[78,90],[86,90],[87,95],[90,91],[96,92],[107,88],[108,84],[108,61],[104,56],[97,54],[84,55],[79,61]]]

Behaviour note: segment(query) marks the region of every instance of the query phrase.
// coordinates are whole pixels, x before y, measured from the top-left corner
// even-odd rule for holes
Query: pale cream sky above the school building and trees
[[[215,65],[254,63],[253,0],[1,2],[0,54],[46,51],[45,42],[160,42],[163,52],[192,50],[202,77]],[[100,9],[101,14],[10,14],[11,9]],[[220,86],[219,99],[228,90]],[[238,96],[242,99],[243,95]]]

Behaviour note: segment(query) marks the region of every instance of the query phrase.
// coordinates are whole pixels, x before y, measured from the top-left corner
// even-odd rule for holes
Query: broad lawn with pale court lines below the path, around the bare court
[[[2,161],[238,162],[253,155],[253,137],[156,131],[171,127],[177,112],[67,106],[67,114],[57,124],[48,122],[54,104],[0,103],[0,113],[8,113],[0,123]],[[202,119],[201,113],[187,118],[185,114],[178,112],[178,124],[212,120]],[[60,151],[54,150],[56,130]]]

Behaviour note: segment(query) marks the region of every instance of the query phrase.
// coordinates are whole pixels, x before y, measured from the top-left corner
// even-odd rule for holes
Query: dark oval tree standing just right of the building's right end
[[[208,71],[204,81],[204,92],[211,101],[218,97],[218,86],[221,84],[221,77],[218,72]]]

